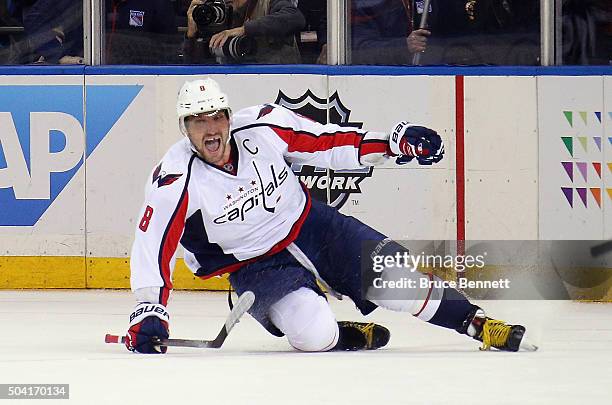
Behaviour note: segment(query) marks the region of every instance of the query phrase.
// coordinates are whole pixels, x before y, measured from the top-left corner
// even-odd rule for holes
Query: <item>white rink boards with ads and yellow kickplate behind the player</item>
[[[181,138],[176,93],[184,80],[207,72],[91,72],[0,76],[0,112],[5,112],[0,116],[0,196],[8,207],[0,223],[0,288],[129,286],[130,247],[144,184],[167,148]],[[388,131],[401,119],[436,128],[446,155],[434,167],[389,162],[355,173],[358,187],[345,193],[336,182],[310,178],[321,186],[319,193],[328,190],[328,202],[340,201],[341,212],[390,237],[454,239],[459,215],[465,219],[466,239],[612,238],[610,77],[466,76],[459,110],[457,79],[451,69],[447,72],[238,70],[212,76],[234,110],[282,99],[296,108],[300,102],[332,105],[346,122],[366,129]],[[566,112],[572,112],[572,125]],[[71,126],[58,128],[58,117],[66,115],[72,117],[67,119]],[[458,125],[464,127],[462,134]],[[40,140],[44,131],[48,153],[38,148],[35,154],[35,147],[30,156],[30,138]],[[572,138],[574,156],[567,155],[564,138]],[[569,163],[573,183],[565,169]],[[27,175],[36,187],[28,189]],[[464,194],[457,193],[457,179]],[[41,194],[45,184],[50,195]],[[572,188],[573,205],[562,188]],[[11,222],[17,217],[21,222]],[[178,267],[177,288],[227,287],[223,279],[196,280],[180,260]]]

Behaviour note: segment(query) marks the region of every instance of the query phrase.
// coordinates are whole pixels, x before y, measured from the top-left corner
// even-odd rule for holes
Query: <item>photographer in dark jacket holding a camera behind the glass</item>
[[[194,8],[205,2],[193,0],[187,11],[186,63],[300,63],[295,34],[304,27],[304,16],[295,1],[226,0],[225,4],[232,8],[231,22],[227,29],[220,27],[217,32],[212,32],[215,29],[210,26],[198,27],[193,19]],[[250,52],[239,59],[227,57],[227,42],[243,36],[247,38],[244,49]],[[224,45],[226,50],[222,53]],[[225,56],[215,57],[214,53]]]

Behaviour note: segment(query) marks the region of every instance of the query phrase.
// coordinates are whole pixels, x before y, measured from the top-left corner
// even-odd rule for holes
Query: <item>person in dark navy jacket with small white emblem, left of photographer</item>
[[[180,35],[170,0],[105,1],[105,63],[178,62]]]

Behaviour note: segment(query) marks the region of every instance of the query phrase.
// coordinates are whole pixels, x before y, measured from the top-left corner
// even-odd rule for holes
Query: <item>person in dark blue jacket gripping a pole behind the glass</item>
[[[409,65],[425,52],[431,32],[413,31],[410,8],[410,0],[352,0],[351,64]],[[327,45],[317,62],[327,63]]]

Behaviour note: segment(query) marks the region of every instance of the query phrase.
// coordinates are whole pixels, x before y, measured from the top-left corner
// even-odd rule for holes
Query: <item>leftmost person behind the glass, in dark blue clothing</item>
[[[34,63],[83,63],[83,4],[72,0],[19,2]]]

